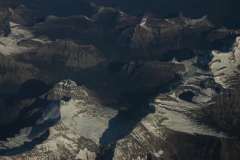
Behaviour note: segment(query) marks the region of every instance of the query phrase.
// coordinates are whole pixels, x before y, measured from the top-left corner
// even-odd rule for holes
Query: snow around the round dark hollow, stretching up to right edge
[[[214,78],[215,81],[226,86],[228,77],[239,73],[237,67],[240,65],[240,37],[236,39],[233,51],[229,53],[220,53],[217,51],[206,52],[201,57],[195,57],[190,60],[176,62],[184,64],[186,72],[182,73],[182,84],[176,89],[167,94],[159,94],[152,105],[156,107],[156,112],[153,114],[158,117],[165,117],[162,122],[167,128],[172,130],[185,132],[189,134],[203,134],[216,137],[226,137],[224,133],[219,133],[214,127],[198,123],[194,117],[198,110],[207,107],[212,97],[217,95],[216,91],[211,88],[201,88],[200,82]],[[209,59],[209,56],[213,59]],[[203,71],[198,68],[197,63],[208,64],[211,71]],[[191,102],[186,102],[178,98],[182,92],[191,91],[194,97]],[[145,123],[145,126],[153,133],[157,130],[153,123]]]

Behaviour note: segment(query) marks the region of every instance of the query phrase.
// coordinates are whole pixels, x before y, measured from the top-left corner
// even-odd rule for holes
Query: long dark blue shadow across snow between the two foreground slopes
[[[109,120],[108,128],[99,140],[101,146],[95,160],[112,160],[117,141],[129,135],[144,117],[154,112],[155,107],[149,105],[119,110],[118,114]]]

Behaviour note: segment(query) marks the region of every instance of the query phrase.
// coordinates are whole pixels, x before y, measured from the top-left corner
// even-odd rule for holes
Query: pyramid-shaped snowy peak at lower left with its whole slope
[[[42,96],[52,102],[40,110],[41,116],[36,124],[21,129],[14,138],[2,141],[2,154],[15,155],[33,148],[12,158],[24,156],[38,159],[72,159],[83,158],[88,154],[95,157],[98,140],[107,128],[108,120],[116,115],[116,111],[99,105],[90,93],[85,87],[77,86],[71,80],[56,84]],[[64,97],[69,99],[61,100]],[[39,138],[45,141],[36,145]],[[26,142],[29,144],[25,145]],[[32,154],[33,151],[36,151],[36,154]]]

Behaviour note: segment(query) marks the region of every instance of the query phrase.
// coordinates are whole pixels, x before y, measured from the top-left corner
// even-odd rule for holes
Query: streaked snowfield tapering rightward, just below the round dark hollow
[[[185,102],[180,99],[175,101],[161,101],[156,99],[153,105],[156,107],[156,112],[154,114],[159,117],[166,117],[168,120],[164,120],[162,125],[172,130],[185,132],[189,134],[203,134],[216,137],[225,137],[222,133],[216,132],[216,130],[207,125],[200,124],[194,119],[190,118],[200,109],[199,106]]]

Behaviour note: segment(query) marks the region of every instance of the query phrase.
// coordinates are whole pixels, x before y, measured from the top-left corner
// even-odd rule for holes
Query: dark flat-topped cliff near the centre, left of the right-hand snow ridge
[[[184,65],[160,61],[138,61],[124,65],[118,79],[125,91],[148,92],[177,79]],[[169,84],[170,85],[170,84]]]

